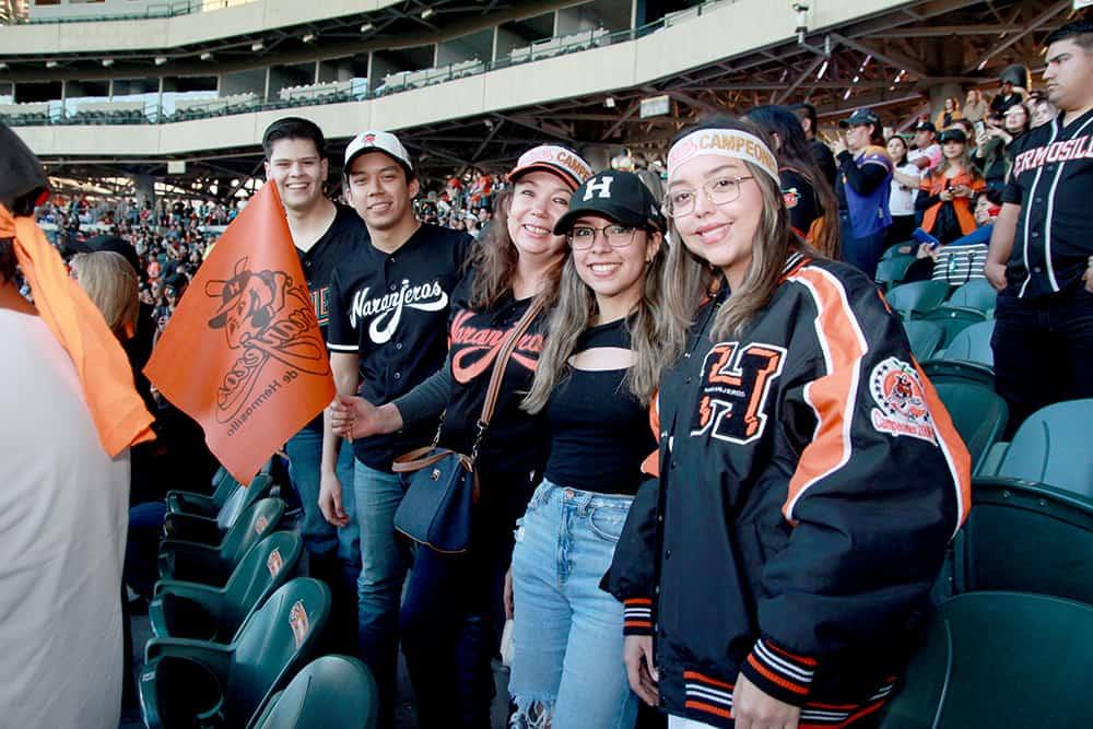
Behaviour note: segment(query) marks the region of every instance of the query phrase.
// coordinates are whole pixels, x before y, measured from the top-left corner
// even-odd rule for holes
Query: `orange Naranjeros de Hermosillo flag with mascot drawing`
[[[334,397],[326,343],[277,186],[239,213],[187,289],[144,367],[250,483]]]

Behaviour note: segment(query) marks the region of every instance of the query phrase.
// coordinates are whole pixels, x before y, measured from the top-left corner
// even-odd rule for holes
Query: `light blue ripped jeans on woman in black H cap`
[[[622,662],[623,607],[600,589],[633,498],[543,481],[513,552],[513,727],[630,729],[637,696]]]

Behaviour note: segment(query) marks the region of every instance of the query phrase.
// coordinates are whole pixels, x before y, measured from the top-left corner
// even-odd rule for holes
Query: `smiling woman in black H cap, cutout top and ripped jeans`
[[[655,317],[663,230],[627,172],[590,178],[554,226],[573,255],[525,400],[550,424],[550,459],[513,553],[514,729],[634,726],[623,605],[599,583],[656,449],[648,404],[671,354]]]

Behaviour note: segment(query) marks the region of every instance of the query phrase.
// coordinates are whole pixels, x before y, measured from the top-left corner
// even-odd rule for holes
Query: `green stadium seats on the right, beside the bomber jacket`
[[[985,280],[955,291],[942,281],[901,284],[912,262],[889,249],[877,282],[972,455],[974,478],[935,610],[879,726],[1093,726],[1093,400],[1044,408],[1000,442],[1009,411],[994,389],[997,293]]]

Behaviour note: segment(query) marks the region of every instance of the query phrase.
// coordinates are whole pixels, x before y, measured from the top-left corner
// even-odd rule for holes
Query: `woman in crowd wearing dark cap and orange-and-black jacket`
[[[947,129],[940,141],[944,158],[919,183],[915,209],[922,211],[924,231],[952,243],[976,228],[972,201],[986,183],[972,165],[963,130]]]

